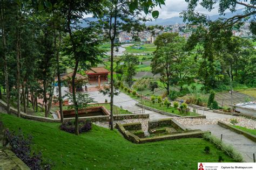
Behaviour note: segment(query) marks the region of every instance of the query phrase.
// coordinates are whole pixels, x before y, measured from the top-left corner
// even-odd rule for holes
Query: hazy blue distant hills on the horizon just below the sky
[[[234,15],[237,15],[237,14],[241,14],[243,13],[243,10],[244,9],[239,9],[233,13],[231,12],[227,12],[225,14],[225,16],[220,16],[220,15],[213,15],[213,16],[210,16],[210,19],[211,20],[216,20],[218,19],[219,17],[222,17],[222,18],[230,18],[230,17],[233,17]],[[93,17],[88,17],[88,18],[84,18],[86,20],[88,20],[88,22],[96,22],[98,19],[97,18],[93,18]],[[82,27],[86,27],[88,26],[87,22],[85,22],[85,20],[80,20],[81,22],[81,26]],[[166,18],[166,19],[156,19],[156,20],[153,20],[151,22],[146,22],[146,25],[174,25],[174,24],[184,24],[183,22],[183,18],[180,18],[180,17],[172,17],[172,18]]]

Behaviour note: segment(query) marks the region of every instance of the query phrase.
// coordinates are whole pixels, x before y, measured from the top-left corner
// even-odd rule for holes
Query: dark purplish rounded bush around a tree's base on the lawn
[[[79,133],[83,133],[83,132],[87,132],[89,130],[92,129],[92,123],[90,121],[83,121],[80,120],[78,122],[78,126],[79,126]],[[69,132],[69,133],[75,133],[76,129],[75,129],[75,121],[67,121],[64,122],[60,125],[60,130]]]

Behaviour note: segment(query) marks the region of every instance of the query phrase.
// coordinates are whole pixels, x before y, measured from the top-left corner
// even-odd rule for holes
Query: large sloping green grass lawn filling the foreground
[[[233,162],[223,151],[202,138],[133,144],[117,131],[93,125],[85,134],[59,130],[59,123],[45,123],[0,114],[4,127],[33,136],[32,149],[55,162],[53,169],[196,169],[198,162]],[[15,123],[14,123],[15,122]],[[211,154],[205,154],[209,146]]]

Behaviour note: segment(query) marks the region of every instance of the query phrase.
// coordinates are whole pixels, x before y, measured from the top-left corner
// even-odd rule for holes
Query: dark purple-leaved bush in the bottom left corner
[[[31,151],[32,136],[29,135],[27,138],[23,135],[21,129],[18,133],[10,132],[8,129],[5,130],[7,140],[11,145],[11,150],[16,156],[21,159],[30,169],[51,169],[53,164],[49,164],[43,161],[42,153],[36,153]]]

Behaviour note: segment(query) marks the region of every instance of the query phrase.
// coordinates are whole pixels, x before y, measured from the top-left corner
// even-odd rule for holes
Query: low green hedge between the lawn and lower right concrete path
[[[242,155],[235,151],[231,145],[225,145],[220,139],[215,136],[212,136],[210,133],[204,133],[204,139],[210,141],[215,146],[217,146],[220,150],[223,150],[227,155],[233,158],[237,162],[242,162]]]

